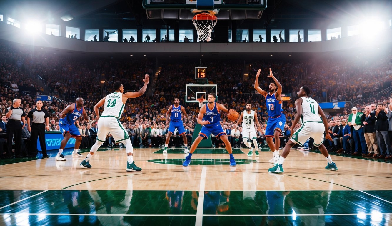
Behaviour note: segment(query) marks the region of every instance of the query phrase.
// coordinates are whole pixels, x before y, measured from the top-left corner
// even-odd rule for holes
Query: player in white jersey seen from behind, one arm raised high
[[[149,83],[149,75],[145,75],[143,82],[143,87],[137,92],[124,92],[124,86],[122,82],[114,82],[113,89],[114,93],[107,95],[102,98],[95,106],[94,111],[97,115],[96,119],[99,120],[98,124],[98,133],[97,133],[97,141],[91,147],[90,153],[87,155],[86,159],[80,163],[80,166],[84,168],[91,168],[89,160],[93,157],[94,153],[98,150],[98,148],[105,142],[106,135],[110,133],[114,139],[115,143],[121,142],[125,145],[125,151],[127,152],[127,172],[131,171],[141,171],[142,169],[135,165],[133,160],[133,147],[131,139],[129,139],[129,135],[125,128],[122,126],[119,119],[124,110],[125,102],[127,102],[128,98],[136,98],[140,97],[145,93],[147,89],[147,84]],[[104,105],[104,109],[101,117],[99,116],[99,108]]]

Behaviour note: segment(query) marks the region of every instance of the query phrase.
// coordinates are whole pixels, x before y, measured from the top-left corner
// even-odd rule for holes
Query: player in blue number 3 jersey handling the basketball
[[[233,157],[230,141],[227,139],[227,135],[220,124],[220,111],[222,110],[226,113],[229,113],[234,111],[234,109],[228,110],[225,108],[225,106],[223,106],[223,104],[216,103],[215,93],[210,93],[207,98],[208,104],[201,106],[199,115],[197,117],[197,122],[203,127],[200,130],[199,136],[192,143],[191,150],[189,151],[188,156],[185,157],[185,161],[182,165],[189,165],[191,162],[192,153],[197,148],[200,141],[207,139],[207,137],[212,133],[215,135],[216,139],[221,139],[223,143],[225,143],[226,150],[230,155],[230,166],[236,166],[237,163]]]

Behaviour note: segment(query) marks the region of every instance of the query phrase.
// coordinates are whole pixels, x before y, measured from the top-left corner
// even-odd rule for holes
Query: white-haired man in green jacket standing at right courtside
[[[352,137],[354,138],[355,150],[352,155],[367,154],[367,145],[365,136],[363,135],[361,116],[362,112],[358,112],[356,107],[351,109],[352,114],[348,115],[348,126],[352,128]]]

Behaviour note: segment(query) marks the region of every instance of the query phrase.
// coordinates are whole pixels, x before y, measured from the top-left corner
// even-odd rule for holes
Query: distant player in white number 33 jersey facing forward
[[[246,110],[241,112],[240,118],[238,119],[236,126],[234,127],[234,130],[237,130],[238,124],[242,122],[242,139],[244,144],[250,148],[248,156],[252,156],[253,148],[252,148],[252,142],[248,141],[252,140],[254,144],[254,153],[255,155],[259,155],[259,152],[257,150],[257,136],[256,136],[256,130],[254,129],[254,122],[256,121],[257,128],[261,132],[261,127],[259,120],[257,119],[257,113],[255,111],[252,111],[252,104],[247,103],[246,104]]]

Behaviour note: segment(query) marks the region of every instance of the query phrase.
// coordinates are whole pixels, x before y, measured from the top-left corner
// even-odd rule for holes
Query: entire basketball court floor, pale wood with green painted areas
[[[100,149],[91,169],[80,158],[0,166],[0,225],[390,225],[391,164],[292,150],[283,174],[271,153],[134,149],[141,172],[125,172],[124,149]],[[87,153],[83,153],[86,155]]]

